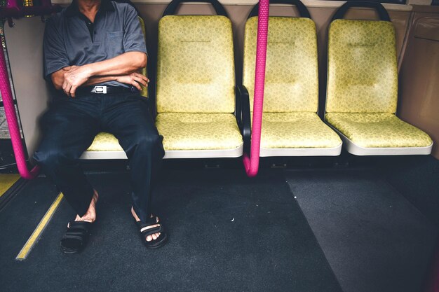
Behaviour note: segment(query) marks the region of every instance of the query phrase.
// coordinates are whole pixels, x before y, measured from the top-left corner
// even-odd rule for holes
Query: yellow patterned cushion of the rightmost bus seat
[[[365,148],[426,147],[433,143],[428,134],[393,113],[327,113],[325,119]]]

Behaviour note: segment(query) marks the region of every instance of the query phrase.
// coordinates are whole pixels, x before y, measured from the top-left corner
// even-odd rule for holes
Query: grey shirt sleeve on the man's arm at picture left
[[[43,38],[44,78],[50,81],[53,72],[69,66],[64,41],[53,18],[46,22]]]

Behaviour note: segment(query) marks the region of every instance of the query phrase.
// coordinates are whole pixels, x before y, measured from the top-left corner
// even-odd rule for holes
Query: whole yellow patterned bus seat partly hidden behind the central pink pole
[[[257,17],[245,25],[243,85],[253,107]],[[339,155],[342,140],[317,115],[316,25],[269,18],[261,156]]]

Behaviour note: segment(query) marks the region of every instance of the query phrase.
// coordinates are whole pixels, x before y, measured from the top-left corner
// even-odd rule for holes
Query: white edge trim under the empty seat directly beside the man
[[[243,145],[234,149],[218,150],[168,150],[164,159],[173,158],[236,158],[243,155]]]

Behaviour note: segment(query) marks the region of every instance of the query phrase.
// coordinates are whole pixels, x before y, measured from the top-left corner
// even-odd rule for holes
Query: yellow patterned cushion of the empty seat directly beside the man
[[[156,127],[166,151],[235,149],[243,144],[232,113],[159,113]]]

